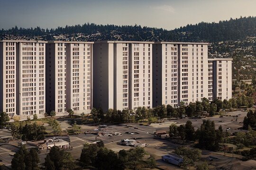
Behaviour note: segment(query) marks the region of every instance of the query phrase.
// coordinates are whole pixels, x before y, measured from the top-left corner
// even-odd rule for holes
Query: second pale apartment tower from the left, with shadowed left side
[[[92,106],[93,42],[46,45],[46,111],[88,113]]]

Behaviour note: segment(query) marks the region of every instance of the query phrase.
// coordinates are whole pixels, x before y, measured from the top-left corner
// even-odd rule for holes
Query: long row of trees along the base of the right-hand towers
[[[232,98],[229,100],[214,100],[209,102],[207,98],[203,98],[202,102],[190,102],[189,105],[185,106],[181,102],[181,106],[178,108],[168,105],[159,105],[155,108],[138,107],[137,110],[113,110],[109,109],[107,112],[101,108],[92,108],[91,117],[94,122],[108,121],[117,123],[135,122],[137,120],[148,119],[149,122],[156,122],[159,118],[183,118],[183,116],[192,117],[194,115],[202,115],[208,112],[210,116],[213,116],[216,112],[221,109],[235,109],[242,106],[250,108],[254,105],[254,99],[242,95],[236,99]],[[87,118],[87,116],[85,116]]]

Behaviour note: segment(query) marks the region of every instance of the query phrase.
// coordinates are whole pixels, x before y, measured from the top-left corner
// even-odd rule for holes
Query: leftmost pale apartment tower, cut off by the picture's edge
[[[10,117],[45,114],[44,41],[0,41],[0,110]]]

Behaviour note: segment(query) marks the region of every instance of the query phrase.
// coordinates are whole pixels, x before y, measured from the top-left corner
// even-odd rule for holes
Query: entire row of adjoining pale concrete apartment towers
[[[0,41],[0,111],[10,117],[230,99],[231,78],[232,59],[209,58],[202,42]]]

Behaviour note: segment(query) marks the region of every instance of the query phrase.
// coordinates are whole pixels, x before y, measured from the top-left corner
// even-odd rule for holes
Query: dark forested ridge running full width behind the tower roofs
[[[219,21],[219,23],[201,22],[187,25],[171,31],[162,28],[141,26],[114,26],[83,24],[51,29],[18,28],[0,30],[0,39],[8,39],[6,35],[27,37],[28,39],[55,40],[64,35],[67,40],[74,41],[180,41],[180,42],[219,42],[243,40],[247,36],[256,35],[256,17],[240,17]]]

